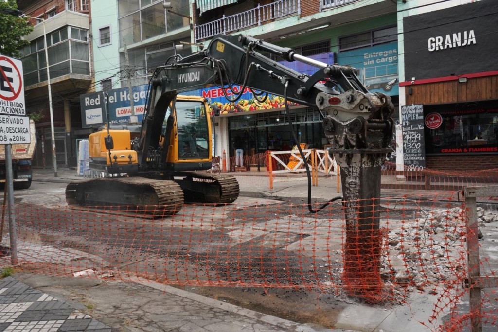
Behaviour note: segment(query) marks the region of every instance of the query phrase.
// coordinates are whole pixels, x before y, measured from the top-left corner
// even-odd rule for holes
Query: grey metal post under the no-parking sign
[[[12,145],[5,145],[5,186],[7,186],[8,233],[10,236],[10,262],[17,264],[17,234],[15,232],[14,182],[12,176]]]

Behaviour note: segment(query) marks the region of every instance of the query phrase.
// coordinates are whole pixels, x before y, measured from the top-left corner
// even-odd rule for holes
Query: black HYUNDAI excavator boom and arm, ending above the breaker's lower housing
[[[317,71],[311,76],[298,73],[263,52],[286,61],[305,62],[317,67]],[[167,106],[176,95],[211,86],[232,88],[235,95],[249,88],[318,108],[329,140],[334,141],[332,136],[343,130],[342,127],[348,127],[344,134],[350,139],[342,137],[331,141],[338,150],[382,148],[387,146],[392,132],[390,98],[369,93],[355,72],[350,66],[322,63],[301,56],[293,49],[251,37],[217,35],[205,50],[184,58],[172,57],[164,66],[156,68],[137,150],[146,151],[147,146],[157,143]],[[368,135],[370,128],[376,132]],[[380,141],[379,128],[382,128]],[[144,163],[146,153],[141,155]]]

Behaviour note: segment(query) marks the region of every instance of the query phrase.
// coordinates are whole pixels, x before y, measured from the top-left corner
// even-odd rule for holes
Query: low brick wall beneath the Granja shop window
[[[498,168],[498,154],[426,156],[425,166],[440,171],[473,171]]]

